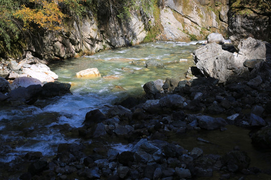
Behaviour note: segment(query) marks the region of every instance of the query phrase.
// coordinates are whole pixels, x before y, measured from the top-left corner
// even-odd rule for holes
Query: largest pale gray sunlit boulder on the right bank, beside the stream
[[[223,50],[217,43],[200,47],[194,51],[193,56],[201,73],[219,79],[219,82],[225,82],[230,76],[247,71],[243,61],[236,60],[231,52]]]

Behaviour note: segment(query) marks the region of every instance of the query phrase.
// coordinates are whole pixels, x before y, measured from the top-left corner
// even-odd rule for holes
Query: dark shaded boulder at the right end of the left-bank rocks
[[[61,83],[58,81],[48,82],[42,87],[42,96],[43,97],[54,97],[61,96],[66,93],[71,93],[70,91],[71,84]]]

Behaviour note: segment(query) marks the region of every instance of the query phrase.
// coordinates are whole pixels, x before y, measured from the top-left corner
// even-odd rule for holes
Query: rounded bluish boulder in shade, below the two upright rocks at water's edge
[[[162,97],[159,103],[162,107],[182,108],[184,107],[185,98],[181,95],[172,94]]]

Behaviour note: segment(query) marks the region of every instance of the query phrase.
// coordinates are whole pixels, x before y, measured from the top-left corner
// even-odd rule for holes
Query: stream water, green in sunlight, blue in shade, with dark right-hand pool
[[[198,46],[197,42],[159,41],[106,50],[51,64],[50,68],[59,75],[60,82],[72,84],[73,94],[38,100],[34,105],[28,106],[1,105],[0,162],[11,165],[29,151],[40,151],[43,155],[52,156],[59,143],[80,143],[80,139],[65,136],[61,132],[61,125],[67,123],[72,127],[82,126],[88,111],[98,108],[106,112],[112,104],[128,95],[143,95],[143,85],[150,80],[165,80],[167,77],[184,79],[188,67],[193,65],[191,53]],[[151,59],[164,63],[165,68],[146,68],[144,65],[131,63],[134,60],[144,63]],[[187,61],[172,63],[179,59]],[[101,77],[76,77],[76,72],[92,67],[99,69]],[[239,145],[252,156],[253,165],[260,168],[270,166],[264,157],[266,154],[259,153],[250,144],[248,130],[231,126],[228,129],[223,133],[215,130],[171,138],[189,150],[201,147],[208,153],[223,154]],[[199,135],[217,145],[202,145],[196,140]]]

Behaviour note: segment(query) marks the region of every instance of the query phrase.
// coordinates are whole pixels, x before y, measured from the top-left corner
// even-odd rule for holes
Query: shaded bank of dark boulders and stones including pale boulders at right
[[[252,48],[264,43],[248,40]],[[268,44],[264,44],[267,48]],[[242,53],[244,49],[246,53]],[[0,175],[4,179],[19,176],[20,179],[269,179],[271,63],[266,53],[269,51],[265,50],[264,57],[248,58],[251,55],[248,52],[258,55],[257,50],[240,46],[235,56],[222,50],[221,45],[213,43],[196,50],[197,67],[190,68],[190,80],[167,78],[165,82],[161,79],[147,82],[143,86],[146,96],[128,97],[106,113],[91,110],[86,113],[82,127],[58,125],[59,131],[79,138],[80,142],[58,144],[53,156],[28,152],[14,164],[1,163]],[[240,58],[243,54],[246,57]],[[213,61],[198,64],[204,61],[201,57]],[[231,67],[231,62],[223,61],[228,65],[225,68],[219,65],[231,58],[239,59],[239,66],[234,66],[238,69]],[[6,81],[2,84],[6,84],[1,86],[2,92],[9,91]],[[33,96],[37,98],[61,95],[70,88],[65,83],[51,82],[25,87],[25,94],[34,92],[30,90],[34,87],[39,89]],[[9,93],[3,94],[5,98],[13,97]],[[239,146],[209,153],[204,145],[185,148],[189,141],[179,140],[196,133],[194,140],[205,146],[216,145],[204,134],[214,131],[217,136],[226,136],[232,133],[232,126],[250,131],[253,146],[264,154],[264,164],[251,165],[254,157]]]

